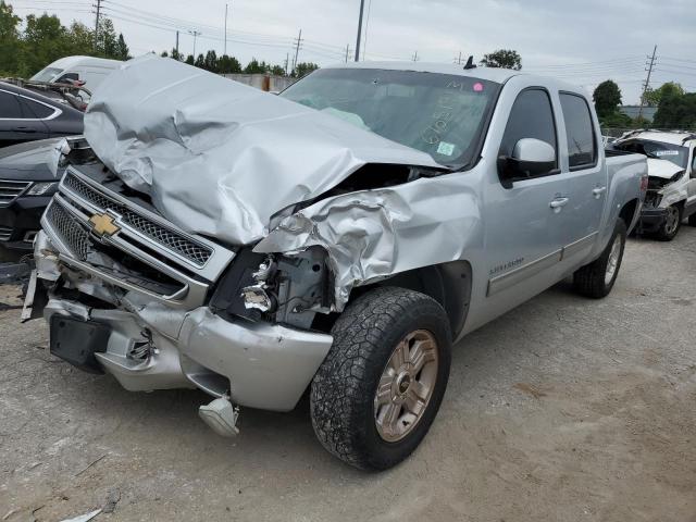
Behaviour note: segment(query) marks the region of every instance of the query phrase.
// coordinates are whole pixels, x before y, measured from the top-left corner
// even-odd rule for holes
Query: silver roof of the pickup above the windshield
[[[435,74],[451,74],[457,76],[470,76],[474,78],[496,82],[498,84],[504,84],[513,76],[525,76],[531,79],[538,78],[539,85],[543,85],[543,86],[554,85],[560,90],[585,92],[585,88],[575,84],[569,84],[567,82],[559,80],[557,78],[554,78],[552,76],[532,75],[523,71],[514,71],[511,69],[502,69],[502,67],[476,66],[474,69],[464,69],[463,65],[457,65],[451,63],[386,61],[386,62],[336,63],[323,69],[381,69],[381,70],[388,70],[388,71],[414,71],[419,73],[435,73]]]

